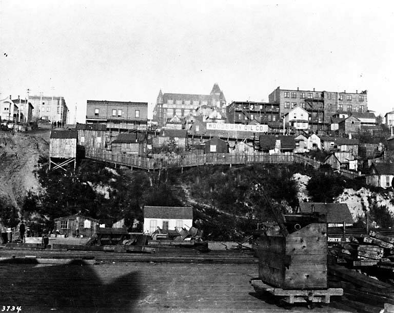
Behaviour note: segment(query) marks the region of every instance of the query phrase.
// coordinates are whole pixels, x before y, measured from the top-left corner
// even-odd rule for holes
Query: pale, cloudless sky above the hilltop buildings
[[[87,100],[163,92],[267,101],[284,89],[368,90],[391,111],[394,3],[366,1],[0,0],[2,98],[62,95],[70,123]]]

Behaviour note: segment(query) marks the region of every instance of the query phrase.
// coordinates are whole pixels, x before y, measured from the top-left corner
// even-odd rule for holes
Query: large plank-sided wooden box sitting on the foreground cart
[[[283,289],[327,288],[327,226],[312,223],[258,240],[259,279]]]

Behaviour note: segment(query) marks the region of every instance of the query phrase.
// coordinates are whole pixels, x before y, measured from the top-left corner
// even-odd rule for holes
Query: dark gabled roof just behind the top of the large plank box
[[[301,212],[311,213],[312,205],[315,212],[326,214],[327,223],[353,223],[346,203],[300,202]]]

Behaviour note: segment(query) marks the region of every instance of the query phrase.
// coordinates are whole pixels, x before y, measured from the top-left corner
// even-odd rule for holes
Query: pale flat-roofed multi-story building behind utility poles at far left
[[[30,95],[35,120],[67,123],[68,108],[63,96]]]

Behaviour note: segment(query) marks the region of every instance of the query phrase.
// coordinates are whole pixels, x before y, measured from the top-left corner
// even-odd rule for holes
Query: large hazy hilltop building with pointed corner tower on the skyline
[[[213,85],[210,94],[163,93],[160,90],[153,109],[153,121],[164,126],[174,115],[182,119],[203,106],[219,108],[225,114],[226,98],[217,83]]]

